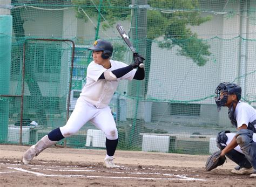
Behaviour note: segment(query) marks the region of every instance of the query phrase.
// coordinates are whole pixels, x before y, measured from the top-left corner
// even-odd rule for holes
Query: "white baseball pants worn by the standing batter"
[[[91,121],[98,129],[102,130],[107,139],[116,140],[118,138],[116,122],[111,113],[110,107],[96,108],[91,103],[79,97],[68,122],[60,127],[64,137],[76,134],[77,131]]]

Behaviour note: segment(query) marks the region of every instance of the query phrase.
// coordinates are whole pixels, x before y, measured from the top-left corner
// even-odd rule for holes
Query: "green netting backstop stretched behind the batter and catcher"
[[[117,32],[123,25],[145,57],[143,81],[120,81],[110,108],[118,150],[210,154],[231,130],[220,82],[242,87],[256,107],[254,1],[12,0],[0,5],[0,142],[35,144],[64,126],[86,83],[96,39],[114,60],[132,63]],[[86,123],[59,146],[104,149],[105,135]]]

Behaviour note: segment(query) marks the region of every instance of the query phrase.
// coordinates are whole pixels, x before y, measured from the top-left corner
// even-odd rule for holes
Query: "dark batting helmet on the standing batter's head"
[[[109,41],[98,39],[93,43],[93,47],[90,47],[88,50],[103,51],[102,58],[108,59],[112,56],[113,46]]]

